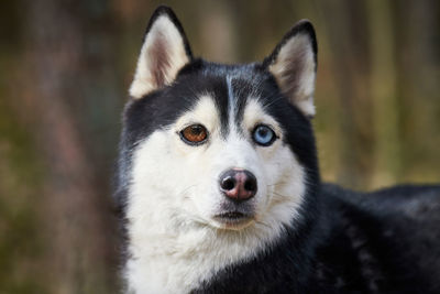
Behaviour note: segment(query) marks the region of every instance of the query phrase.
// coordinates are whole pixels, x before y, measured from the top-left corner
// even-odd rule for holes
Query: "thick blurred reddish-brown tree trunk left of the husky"
[[[97,175],[96,160],[72,105],[82,99],[79,83],[86,64],[77,2],[41,0],[28,3],[24,94],[36,143],[45,166],[40,197],[44,247],[52,293],[112,293],[114,240],[109,195]],[[82,77],[84,78],[84,77]],[[74,81],[72,80],[74,79]],[[110,175],[105,175],[110,176]]]

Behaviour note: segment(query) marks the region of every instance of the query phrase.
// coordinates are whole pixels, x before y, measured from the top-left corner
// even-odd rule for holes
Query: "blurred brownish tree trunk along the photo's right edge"
[[[439,182],[440,1],[402,0],[396,11],[403,181]]]

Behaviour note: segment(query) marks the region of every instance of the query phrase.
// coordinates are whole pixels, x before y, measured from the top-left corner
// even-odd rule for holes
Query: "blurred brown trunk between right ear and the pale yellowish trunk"
[[[339,113],[334,124],[339,127],[336,131],[339,162],[333,168],[339,183],[350,187],[366,187],[373,168],[371,138],[374,130],[370,90],[365,83],[370,68],[364,37],[367,29],[364,3],[344,0],[319,2],[316,7],[324,20],[320,37],[328,39],[332,73],[330,78],[336,83],[339,96],[334,106],[334,111]]]

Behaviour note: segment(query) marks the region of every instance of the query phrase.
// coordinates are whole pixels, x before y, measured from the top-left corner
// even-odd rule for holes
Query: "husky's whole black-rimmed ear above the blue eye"
[[[312,118],[317,41],[311,23],[302,20],[295,24],[263,65],[274,75],[284,95],[306,117]]]

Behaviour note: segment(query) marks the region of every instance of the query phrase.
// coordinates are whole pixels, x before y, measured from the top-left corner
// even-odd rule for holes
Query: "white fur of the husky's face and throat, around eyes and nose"
[[[180,140],[178,132],[193,123],[209,131],[205,144],[191,146]],[[279,139],[266,148],[253,144],[251,131],[257,123],[272,126]],[[173,126],[139,144],[127,211],[129,291],[188,293],[228,264],[275,242],[283,226],[297,216],[305,171],[283,143],[283,130],[256,99],[246,106],[241,128],[244,137],[231,129],[222,138],[216,105],[205,95]],[[255,219],[233,228],[212,218],[226,200],[219,175],[231,167],[251,171],[258,185],[250,199]]]

